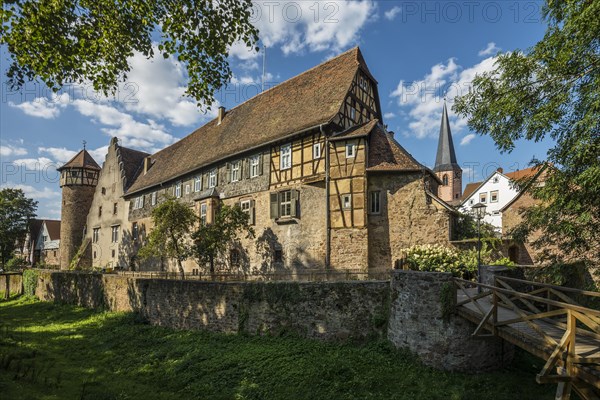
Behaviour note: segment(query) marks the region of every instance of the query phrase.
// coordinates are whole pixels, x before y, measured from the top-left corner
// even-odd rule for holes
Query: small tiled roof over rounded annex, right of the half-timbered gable
[[[410,155],[392,134],[376,125],[369,142],[368,171],[416,171],[425,167]]]

